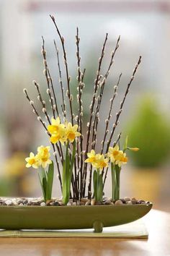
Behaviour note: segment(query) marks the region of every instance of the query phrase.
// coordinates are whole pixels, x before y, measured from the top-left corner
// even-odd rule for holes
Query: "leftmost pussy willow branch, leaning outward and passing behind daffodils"
[[[40,123],[42,124],[42,126],[44,127],[46,133],[50,136],[49,132],[48,132],[48,129],[45,125],[45,121],[42,121],[42,118],[40,117],[40,115],[38,114],[35,106],[34,106],[34,102],[31,101],[28,93],[27,93],[27,89],[24,89],[24,95],[26,96],[27,100],[30,102],[30,105],[32,106],[33,108],[33,113],[35,113],[37,115],[37,120],[40,121]],[[54,156],[55,156],[55,162],[56,162],[56,165],[57,165],[57,168],[58,168],[58,179],[59,179],[59,182],[60,182],[60,185],[61,185],[61,191],[62,191],[62,181],[61,181],[61,171],[60,171],[60,167],[59,167],[59,163],[58,163],[58,158],[57,158],[57,155],[56,155],[56,151],[55,151],[55,147],[53,145],[53,143],[51,143],[51,145],[53,146],[53,151],[54,151]]]

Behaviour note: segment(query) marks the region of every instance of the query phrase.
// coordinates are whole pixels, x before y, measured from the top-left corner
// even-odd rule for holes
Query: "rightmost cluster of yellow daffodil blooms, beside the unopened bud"
[[[126,153],[120,150],[118,145],[115,145],[114,148],[109,147],[109,152],[107,153],[107,155],[111,163],[115,163],[119,167],[121,167],[122,164],[125,164],[128,162],[128,157],[126,156]]]

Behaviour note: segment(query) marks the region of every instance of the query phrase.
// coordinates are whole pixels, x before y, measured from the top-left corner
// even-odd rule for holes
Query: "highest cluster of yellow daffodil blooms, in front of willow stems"
[[[78,125],[72,125],[70,122],[65,122],[61,124],[59,117],[57,119],[52,118],[51,124],[48,125],[48,132],[50,132],[50,142],[53,144],[61,142],[64,145],[64,142],[73,142],[76,137],[79,137],[81,134],[77,132]]]

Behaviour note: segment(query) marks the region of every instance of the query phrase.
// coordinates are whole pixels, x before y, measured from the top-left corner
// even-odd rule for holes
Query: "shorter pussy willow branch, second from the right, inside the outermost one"
[[[110,99],[109,113],[107,115],[107,119],[105,120],[106,126],[105,126],[105,129],[104,129],[104,138],[103,138],[103,140],[101,142],[101,144],[102,144],[101,154],[103,153],[104,143],[106,141],[107,133],[109,132],[108,127],[109,127],[109,121],[110,121],[110,119],[112,117],[112,115],[111,115],[111,113],[112,113],[112,106],[113,106],[113,102],[114,102],[114,100],[115,100],[115,98],[117,96],[117,88],[118,88],[118,86],[120,84],[121,77],[122,77],[122,73],[120,74],[120,76],[119,76],[119,78],[117,80],[117,84],[114,86],[114,93],[112,95],[112,98]]]

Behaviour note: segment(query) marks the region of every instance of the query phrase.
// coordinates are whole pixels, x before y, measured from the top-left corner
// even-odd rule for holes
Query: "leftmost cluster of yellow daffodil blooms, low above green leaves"
[[[31,166],[33,168],[38,168],[42,166],[45,168],[48,164],[52,163],[50,160],[50,147],[44,147],[40,146],[37,148],[37,155],[34,153],[30,153],[30,157],[25,158],[25,161],[27,162],[26,167],[30,168]]]

